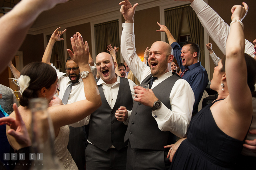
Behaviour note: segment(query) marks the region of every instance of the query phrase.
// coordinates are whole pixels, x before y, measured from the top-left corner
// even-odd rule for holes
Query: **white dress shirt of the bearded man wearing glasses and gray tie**
[[[59,84],[59,98],[62,99],[63,95],[66,91],[66,88],[69,86],[69,84],[71,83],[71,80],[69,77],[65,77],[64,75],[66,73],[60,72],[59,70],[56,69],[56,67],[53,66],[53,64],[51,64],[51,66],[56,70],[57,76],[58,76],[58,84]],[[96,77],[97,74],[97,70],[96,70],[96,65],[94,64],[94,66],[90,66],[92,74],[94,75],[94,77]],[[80,78],[78,80],[80,83],[76,84],[75,86],[72,86],[71,88],[71,92],[69,94],[69,99],[68,99],[68,103],[74,103],[74,102],[78,102],[81,100],[86,100],[85,94],[84,94],[84,82],[82,81],[82,78]],[[90,119],[90,115],[87,116],[85,119]],[[70,124],[68,126],[72,126],[72,127],[81,127],[84,126],[84,124],[81,124],[80,121],[74,123],[74,124]]]

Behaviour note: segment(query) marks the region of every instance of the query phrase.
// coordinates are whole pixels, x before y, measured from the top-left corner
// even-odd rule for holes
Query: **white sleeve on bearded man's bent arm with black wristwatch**
[[[190,125],[194,104],[194,93],[186,80],[176,81],[170,93],[170,103],[171,110],[162,103],[161,108],[152,111],[152,116],[161,131],[171,131],[183,138]]]

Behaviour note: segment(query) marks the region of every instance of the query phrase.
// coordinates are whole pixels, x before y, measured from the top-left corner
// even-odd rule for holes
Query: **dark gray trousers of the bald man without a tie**
[[[127,147],[101,150],[93,144],[85,149],[86,170],[125,170]]]

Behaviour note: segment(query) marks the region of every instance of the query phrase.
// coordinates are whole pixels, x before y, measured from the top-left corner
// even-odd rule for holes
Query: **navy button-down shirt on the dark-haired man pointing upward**
[[[177,60],[181,71],[183,72],[186,67],[182,65],[182,59],[180,56],[181,46],[178,45],[177,42],[174,42],[171,44],[171,47],[174,50],[174,57]],[[204,89],[206,88],[209,79],[207,71],[203,66],[201,66],[201,62],[192,64],[188,66],[188,68],[189,70],[185,72],[184,76],[182,76],[182,79],[185,79],[190,84],[194,92],[195,102],[193,106],[193,114],[196,114],[198,112],[198,104],[203,96]]]

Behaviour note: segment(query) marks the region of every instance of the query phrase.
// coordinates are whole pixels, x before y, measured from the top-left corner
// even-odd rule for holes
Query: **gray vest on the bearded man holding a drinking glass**
[[[152,75],[146,77],[142,83],[149,83]],[[174,83],[180,76],[172,75],[152,89],[155,96],[171,110],[170,93]],[[132,148],[165,150],[164,146],[174,144],[176,136],[170,131],[161,131],[148,106],[135,102],[130,116],[124,141],[129,139]]]

